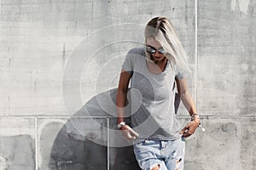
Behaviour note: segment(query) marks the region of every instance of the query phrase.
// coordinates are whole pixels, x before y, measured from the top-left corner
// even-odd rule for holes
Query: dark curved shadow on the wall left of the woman
[[[116,112],[113,105],[116,91],[114,88],[97,94],[61,127],[50,151],[48,169],[107,170],[108,166],[111,170],[140,169],[132,145],[125,141],[116,129],[115,116],[108,114],[110,111]],[[106,103],[109,100],[105,98],[109,96],[113,102]],[[99,100],[105,101],[104,104],[98,102]],[[178,104],[179,102],[176,102],[176,106]],[[125,112],[129,111],[131,109],[127,107]],[[109,129],[115,132],[109,133]],[[121,142],[126,146],[114,147],[119,139],[123,140]]]

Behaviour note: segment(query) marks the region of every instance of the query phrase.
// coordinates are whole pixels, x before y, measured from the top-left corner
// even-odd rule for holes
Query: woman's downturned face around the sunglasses
[[[159,61],[161,61],[163,59],[166,59],[166,55],[160,53],[160,51],[162,51],[161,50],[162,46],[160,45],[160,43],[158,41],[156,41],[154,39],[154,37],[148,37],[146,39],[146,48],[154,48],[154,49],[156,49],[155,53],[151,54],[153,56],[153,60],[155,62],[159,62]],[[159,51],[159,49],[160,49],[160,51]]]

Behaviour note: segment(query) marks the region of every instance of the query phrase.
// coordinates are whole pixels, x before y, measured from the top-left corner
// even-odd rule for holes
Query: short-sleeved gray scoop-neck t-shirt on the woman
[[[132,48],[122,68],[131,77],[131,127],[141,139],[175,140],[180,138],[174,109],[175,78],[184,74],[175,71],[168,61],[160,74],[148,70],[144,48]]]

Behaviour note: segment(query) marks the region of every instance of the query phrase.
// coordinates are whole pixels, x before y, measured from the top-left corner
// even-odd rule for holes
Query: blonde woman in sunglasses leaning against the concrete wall
[[[142,169],[183,169],[184,139],[195,133],[200,118],[185,79],[186,53],[166,17],[155,17],[145,27],[145,48],[125,57],[116,96],[118,128],[133,140]],[[131,82],[131,127],[125,123],[125,104]],[[175,83],[191,122],[179,132],[174,110]]]

